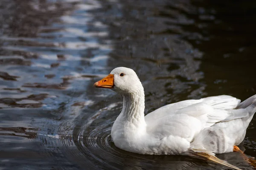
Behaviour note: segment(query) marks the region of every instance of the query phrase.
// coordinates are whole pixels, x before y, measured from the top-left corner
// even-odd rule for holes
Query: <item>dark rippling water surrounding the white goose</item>
[[[0,170],[227,169],[111,142],[122,97],[93,83],[118,66],[145,113],[185,99],[256,94],[256,1],[1,0]],[[244,140],[256,157],[256,118]],[[218,155],[252,169],[239,153]]]

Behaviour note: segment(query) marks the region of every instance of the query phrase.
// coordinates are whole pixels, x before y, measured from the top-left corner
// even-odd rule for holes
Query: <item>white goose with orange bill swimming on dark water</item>
[[[240,103],[212,96],[163,106],[144,116],[144,89],[130,68],[118,67],[94,84],[123,96],[123,108],[111,130],[116,147],[133,153],[190,155],[239,169],[215,153],[238,151],[256,112],[256,95]]]

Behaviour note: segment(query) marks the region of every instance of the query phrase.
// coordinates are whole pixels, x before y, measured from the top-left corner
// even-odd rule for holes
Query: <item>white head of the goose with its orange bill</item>
[[[107,77],[94,83],[93,86],[96,88],[109,88],[121,94],[143,91],[143,86],[135,71],[125,67],[113,69]]]

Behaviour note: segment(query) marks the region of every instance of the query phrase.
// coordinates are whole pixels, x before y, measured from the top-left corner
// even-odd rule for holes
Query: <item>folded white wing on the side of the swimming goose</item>
[[[147,130],[160,139],[172,135],[191,142],[206,127],[248,116],[245,109],[234,109],[239,103],[222,95],[166,105],[145,116]]]

